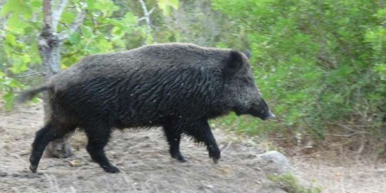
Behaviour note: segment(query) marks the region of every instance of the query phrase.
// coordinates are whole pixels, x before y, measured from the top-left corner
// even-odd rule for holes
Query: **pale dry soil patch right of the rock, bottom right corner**
[[[385,193],[386,164],[371,157],[328,156],[320,152],[311,158],[292,157],[297,175],[328,193]]]

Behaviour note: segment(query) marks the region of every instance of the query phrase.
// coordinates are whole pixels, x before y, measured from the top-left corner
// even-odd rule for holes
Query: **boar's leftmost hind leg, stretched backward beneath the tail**
[[[47,144],[55,139],[59,139],[65,136],[68,132],[71,132],[75,127],[60,128],[52,123],[48,123],[38,132],[36,132],[35,140],[32,143],[32,152],[30,157],[30,170],[36,172],[40,158],[43,155],[44,149]]]

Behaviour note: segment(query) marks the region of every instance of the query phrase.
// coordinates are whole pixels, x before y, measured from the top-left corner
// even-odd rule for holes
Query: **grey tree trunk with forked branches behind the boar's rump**
[[[60,16],[62,15],[67,0],[58,0],[56,9],[52,9],[52,0],[43,1],[44,25],[39,36],[38,46],[40,56],[46,68],[45,79],[48,81],[51,76],[60,71],[60,49],[63,41],[68,38],[66,32],[56,33]],[[73,33],[82,23],[85,17],[84,11],[80,12],[75,21],[71,24],[69,32]],[[47,121],[51,114],[48,108],[48,94],[44,95],[44,113]],[[55,140],[48,144],[46,154],[50,157],[65,158],[71,156],[69,137]]]

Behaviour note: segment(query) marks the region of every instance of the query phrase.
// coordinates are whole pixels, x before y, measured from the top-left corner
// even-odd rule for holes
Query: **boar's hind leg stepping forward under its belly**
[[[109,141],[111,129],[102,125],[95,125],[84,130],[88,137],[87,151],[92,160],[109,173],[118,173],[119,169],[112,165],[105,155],[105,146]]]

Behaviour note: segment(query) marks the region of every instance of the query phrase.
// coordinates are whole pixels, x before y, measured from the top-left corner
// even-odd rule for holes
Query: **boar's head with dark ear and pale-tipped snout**
[[[249,59],[241,52],[231,51],[224,65],[224,91],[232,110],[237,115],[249,114],[262,120],[275,118],[256,87]]]

